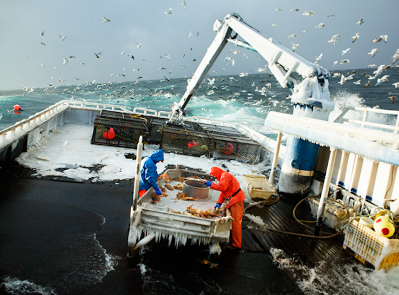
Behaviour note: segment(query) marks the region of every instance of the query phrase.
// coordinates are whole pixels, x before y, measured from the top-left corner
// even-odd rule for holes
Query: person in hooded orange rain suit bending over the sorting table
[[[238,181],[229,172],[221,170],[218,167],[212,167],[209,170],[209,174],[214,176],[219,182],[219,184],[215,184],[211,181],[205,182],[205,185],[209,186],[211,189],[220,191],[219,199],[214,209],[220,208],[220,205],[225,200],[228,200],[226,207],[230,209],[231,217],[234,219],[231,224],[231,242],[227,244],[227,248],[239,249],[241,248],[241,225],[245,194],[241,190]]]

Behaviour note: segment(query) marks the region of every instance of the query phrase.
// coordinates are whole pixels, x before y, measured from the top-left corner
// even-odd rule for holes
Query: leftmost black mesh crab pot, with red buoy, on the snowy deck
[[[144,118],[131,118],[122,113],[97,116],[94,120],[92,144],[136,148],[139,137],[146,136]]]

